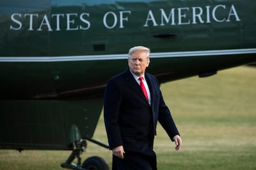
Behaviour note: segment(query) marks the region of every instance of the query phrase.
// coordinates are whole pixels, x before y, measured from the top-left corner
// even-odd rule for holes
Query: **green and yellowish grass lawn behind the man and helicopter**
[[[256,68],[239,66],[207,78],[161,85],[183,145],[175,151],[157,127],[158,169],[256,169]],[[103,118],[94,138],[107,143]],[[0,150],[0,169],[62,169],[70,151]],[[98,155],[111,167],[111,151],[88,142],[83,159]]]

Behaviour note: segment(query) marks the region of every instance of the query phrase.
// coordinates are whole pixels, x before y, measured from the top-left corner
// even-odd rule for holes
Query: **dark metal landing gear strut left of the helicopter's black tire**
[[[86,149],[86,146],[87,143],[85,139],[80,139],[79,141],[74,142],[72,153],[67,160],[61,164],[61,167],[67,169],[86,170],[81,166],[81,155]],[[77,164],[72,163],[75,158],[77,158]]]

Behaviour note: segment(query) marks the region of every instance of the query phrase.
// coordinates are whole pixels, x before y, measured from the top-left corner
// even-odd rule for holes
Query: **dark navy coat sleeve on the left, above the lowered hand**
[[[113,79],[108,81],[104,93],[104,123],[108,135],[109,149],[123,145],[118,124],[119,108],[122,101],[122,91]]]

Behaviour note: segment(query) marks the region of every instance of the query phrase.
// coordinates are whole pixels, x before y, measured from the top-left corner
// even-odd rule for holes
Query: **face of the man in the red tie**
[[[137,76],[143,75],[146,68],[149,65],[149,58],[147,58],[147,52],[134,51],[128,59],[128,65],[132,73]]]

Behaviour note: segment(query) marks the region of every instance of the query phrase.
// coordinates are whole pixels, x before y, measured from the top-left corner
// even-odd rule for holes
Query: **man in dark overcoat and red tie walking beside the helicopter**
[[[157,121],[175,141],[176,150],[182,145],[156,77],[145,72],[149,54],[147,47],[132,47],[129,68],[109,79],[106,86],[104,121],[113,151],[113,169],[157,169],[153,151]]]

